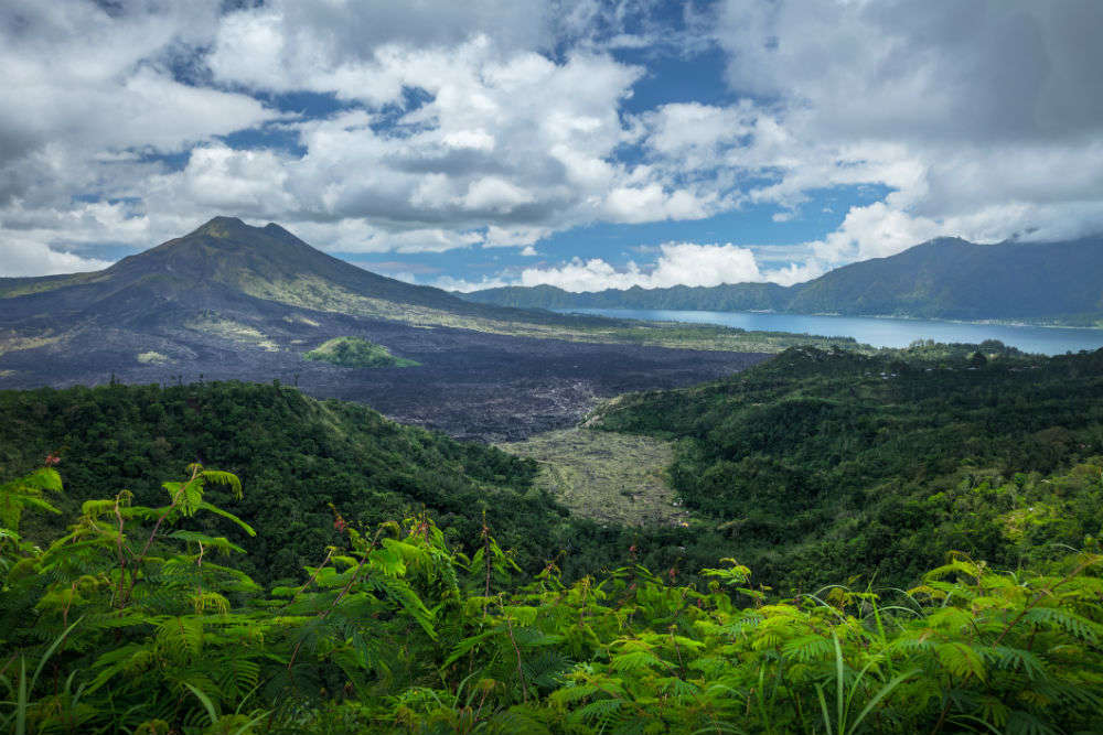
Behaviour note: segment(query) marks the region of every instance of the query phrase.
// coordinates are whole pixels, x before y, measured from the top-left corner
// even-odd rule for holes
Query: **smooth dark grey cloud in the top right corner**
[[[736,89],[807,106],[852,138],[1052,139],[1095,133],[1103,48],[1093,0],[721,3]]]

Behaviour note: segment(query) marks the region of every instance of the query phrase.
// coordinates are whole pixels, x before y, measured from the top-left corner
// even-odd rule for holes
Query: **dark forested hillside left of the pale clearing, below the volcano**
[[[121,489],[153,502],[167,476],[192,462],[235,473],[250,493],[214,497],[258,529],[256,539],[231,537],[260,580],[296,576],[317,561],[340,538],[338,512],[374,525],[425,507],[462,547],[478,540],[489,510],[528,570],[569,525],[565,509],[531,488],[531,462],[274,385],[0,392],[0,480],[49,454],[60,460],[66,493],[58,502],[69,514]],[[64,526],[32,528],[56,536]]]

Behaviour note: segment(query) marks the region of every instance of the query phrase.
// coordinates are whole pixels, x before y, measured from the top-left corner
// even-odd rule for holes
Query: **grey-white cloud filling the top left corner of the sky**
[[[256,99],[182,84],[162,63],[193,26],[213,26],[214,7],[113,17],[73,0],[9,3],[0,11],[0,162],[47,144],[85,156],[175,151],[272,119]]]

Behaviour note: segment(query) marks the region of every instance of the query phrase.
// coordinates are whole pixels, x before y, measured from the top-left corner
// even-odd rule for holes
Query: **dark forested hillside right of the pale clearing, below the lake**
[[[1039,501],[1025,532],[1060,519],[1046,526],[1060,538],[1028,549],[1101,530],[1094,495],[1054,499],[1042,477],[1103,455],[1103,350],[793,348],[728,380],[625,397],[598,425],[679,440],[675,490],[785,592],[912,584],[949,549],[1015,568],[1004,514],[1026,498]]]

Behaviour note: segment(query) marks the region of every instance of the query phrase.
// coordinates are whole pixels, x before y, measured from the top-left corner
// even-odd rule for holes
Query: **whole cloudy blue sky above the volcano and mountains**
[[[0,0],[0,275],[216,215],[457,290],[1103,231],[1099,0]]]

